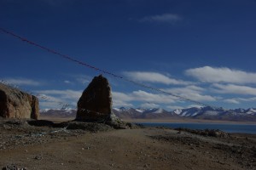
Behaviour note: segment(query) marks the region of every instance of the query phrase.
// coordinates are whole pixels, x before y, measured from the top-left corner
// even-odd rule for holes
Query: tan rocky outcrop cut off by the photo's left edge
[[[0,83],[0,116],[38,119],[38,98]]]

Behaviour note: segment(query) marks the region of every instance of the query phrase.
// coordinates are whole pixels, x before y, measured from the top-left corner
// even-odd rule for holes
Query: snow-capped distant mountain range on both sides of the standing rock
[[[42,116],[56,117],[75,117],[76,110],[73,109],[57,109],[57,110],[41,110]],[[113,113],[122,119],[172,119],[174,117],[187,117],[192,119],[205,120],[221,120],[221,121],[250,121],[256,122],[256,109],[235,109],[224,110],[223,108],[192,107],[189,109],[177,109],[174,111],[166,111],[160,108],[143,109],[143,108],[113,108]]]

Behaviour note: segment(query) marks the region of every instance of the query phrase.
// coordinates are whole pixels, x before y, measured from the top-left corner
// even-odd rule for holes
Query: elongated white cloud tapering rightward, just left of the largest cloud
[[[126,71],[124,72],[126,77],[131,78],[133,81],[138,82],[154,82],[163,84],[178,84],[178,85],[188,85],[191,82],[184,82],[182,80],[176,80],[166,75],[160,74],[158,72],[147,72],[147,71]]]

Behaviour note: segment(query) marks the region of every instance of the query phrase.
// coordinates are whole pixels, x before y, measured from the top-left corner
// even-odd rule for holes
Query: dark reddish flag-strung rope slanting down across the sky
[[[28,40],[28,39],[25,38],[25,37],[20,37],[20,36],[16,35],[15,33],[13,33],[12,31],[7,31],[6,29],[3,29],[3,28],[1,28],[1,27],[0,27],[0,31],[2,31],[3,33],[8,34],[8,35],[10,35],[10,36],[12,36],[12,37],[18,38],[18,39],[20,39],[22,42],[26,42],[26,43],[31,44],[32,46],[41,48],[41,49],[43,49],[44,51],[47,51],[47,52],[49,52],[49,53],[51,53],[51,54],[59,55],[59,56],[60,56],[61,58],[63,58],[63,59],[68,59],[68,60],[71,61],[71,62],[74,62],[74,63],[79,64],[79,65],[86,66],[86,67],[88,67],[88,68],[90,68],[90,69],[93,69],[93,70],[95,70],[95,71],[99,71],[99,72],[101,72],[102,74],[107,74],[107,75],[110,75],[110,76],[112,76],[112,77],[114,77],[114,78],[119,78],[119,79],[121,79],[121,80],[124,80],[125,82],[131,82],[131,83],[133,83],[134,85],[136,85],[136,86],[138,86],[138,87],[141,87],[141,88],[148,88],[149,90],[154,91],[154,92],[157,92],[157,93],[160,93],[160,94],[171,95],[171,96],[173,96],[173,97],[176,97],[177,99],[180,99],[180,100],[183,100],[183,101],[188,101],[188,102],[194,103],[194,104],[196,104],[196,105],[210,106],[210,107],[213,107],[213,108],[219,108],[219,107],[214,106],[214,105],[207,105],[207,104],[205,104],[205,103],[202,103],[202,102],[199,102],[199,101],[195,101],[195,100],[193,100],[193,99],[188,99],[188,98],[183,97],[183,96],[179,96],[179,95],[176,95],[176,94],[172,94],[172,93],[166,92],[166,91],[164,91],[164,90],[161,90],[161,89],[159,89],[159,88],[150,87],[150,86],[145,85],[145,84],[143,84],[143,83],[135,82],[135,81],[132,81],[132,80],[127,79],[127,78],[125,78],[125,77],[121,77],[121,76],[119,76],[119,75],[117,75],[117,74],[113,74],[112,72],[102,70],[102,69],[100,69],[100,68],[97,68],[96,66],[89,65],[89,64],[84,63],[84,62],[82,62],[82,61],[79,61],[79,60],[77,60],[77,59],[74,59],[73,57],[70,57],[70,56],[68,56],[68,55],[66,55],[66,54],[61,54],[61,53],[55,51],[54,49],[46,48],[46,47],[44,47],[44,46],[42,46],[42,45],[40,45],[40,44],[38,44],[38,43],[36,43],[36,42],[32,42],[32,41]]]

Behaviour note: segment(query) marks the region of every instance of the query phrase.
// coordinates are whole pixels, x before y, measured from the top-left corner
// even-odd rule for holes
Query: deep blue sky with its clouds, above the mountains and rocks
[[[1,0],[0,27],[168,93],[256,107],[255,0]],[[3,32],[0,57],[1,80],[38,94],[42,109],[76,105],[100,74]],[[104,76],[114,107],[196,105]]]

